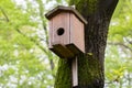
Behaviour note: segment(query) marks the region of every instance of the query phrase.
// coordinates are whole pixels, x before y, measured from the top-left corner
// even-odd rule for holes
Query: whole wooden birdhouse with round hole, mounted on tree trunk
[[[87,21],[74,8],[58,6],[45,16],[50,20],[50,50],[63,58],[85,53],[84,25]]]

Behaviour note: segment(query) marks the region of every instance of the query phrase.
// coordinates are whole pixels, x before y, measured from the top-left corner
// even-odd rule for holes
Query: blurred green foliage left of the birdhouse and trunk
[[[0,88],[53,87],[57,57],[47,51],[45,8],[37,1],[0,1]]]

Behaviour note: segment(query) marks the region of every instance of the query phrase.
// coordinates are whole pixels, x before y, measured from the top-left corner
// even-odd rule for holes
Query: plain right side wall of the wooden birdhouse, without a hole
[[[70,43],[74,43],[81,52],[85,53],[85,34],[84,23],[70,13]]]

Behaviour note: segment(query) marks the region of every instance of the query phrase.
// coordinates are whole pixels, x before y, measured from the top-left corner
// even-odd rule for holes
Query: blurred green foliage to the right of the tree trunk
[[[120,0],[111,20],[106,53],[106,87],[132,86],[132,0]]]

